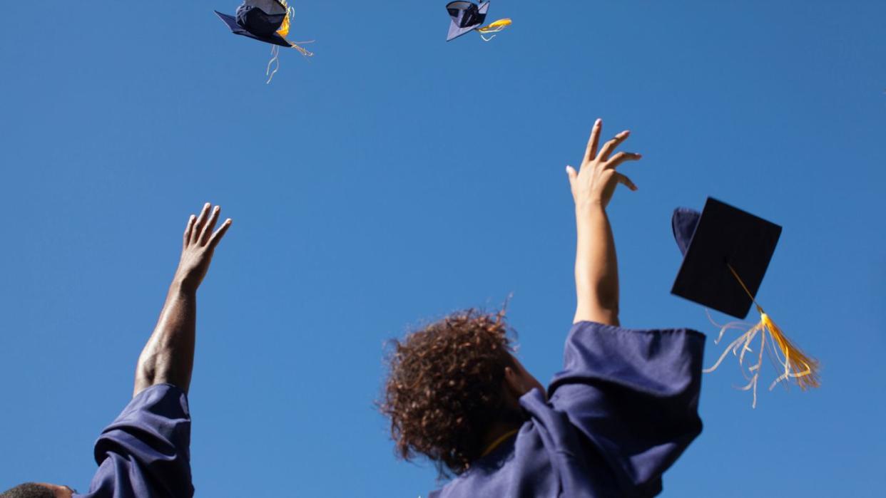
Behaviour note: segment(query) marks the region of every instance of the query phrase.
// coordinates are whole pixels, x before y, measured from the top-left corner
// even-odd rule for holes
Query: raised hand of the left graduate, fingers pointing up
[[[211,206],[211,203],[206,203],[198,217],[190,215],[188,226],[184,229],[182,258],[179,260],[178,269],[175,270],[175,280],[180,282],[183,290],[189,292],[196,292],[197,287],[200,287],[200,282],[209,270],[215,246],[228,231],[231,223],[228,218],[218,230],[213,232],[221,213],[221,206],[215,206],[210,214]]]

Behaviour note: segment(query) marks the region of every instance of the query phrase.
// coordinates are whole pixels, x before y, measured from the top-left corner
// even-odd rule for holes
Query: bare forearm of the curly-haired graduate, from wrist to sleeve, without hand
[[[576,206],[574,322],[618,325],[618,260],[606,211],[600,203]]]

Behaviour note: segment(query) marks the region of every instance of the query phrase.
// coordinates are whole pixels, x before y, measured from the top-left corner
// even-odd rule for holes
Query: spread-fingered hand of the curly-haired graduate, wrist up
[[[631,132],[625,130],[615,135],[612,140],[603,144],[598,153],[601,129],[602,120],[597,119],[591,130],[591,138],[587,142],[585,158],[581,162],[579,171],[576,172],[572,166],[566,166],[576,208],[600,205],[605,209],[619,183],[631,190],[637,189],[633,181],[616,171],[616,167],[625,161],[636,161],[641,155],[633,152],[618,152],[614,156],[611,155],[621,142],[625,142]]]

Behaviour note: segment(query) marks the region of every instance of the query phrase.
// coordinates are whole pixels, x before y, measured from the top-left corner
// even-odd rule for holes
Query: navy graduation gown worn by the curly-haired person
[[[572,326],[548,401],[431,498],[655,496],[662,473],[702,431],[704,335],[688,329]]]

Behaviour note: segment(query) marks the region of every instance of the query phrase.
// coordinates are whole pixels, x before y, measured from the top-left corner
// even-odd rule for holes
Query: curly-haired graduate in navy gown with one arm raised
[[[578,306],[563,371],[547,391],[513,356],[503,311],[453,313],[394,342],[381,410],[397,453],[454,479],[431,497],[654,496],[701,433],[704,336],[618,321],[618,268],[606,206],[625,131],[599,146],[598,119],[578,171]]]

